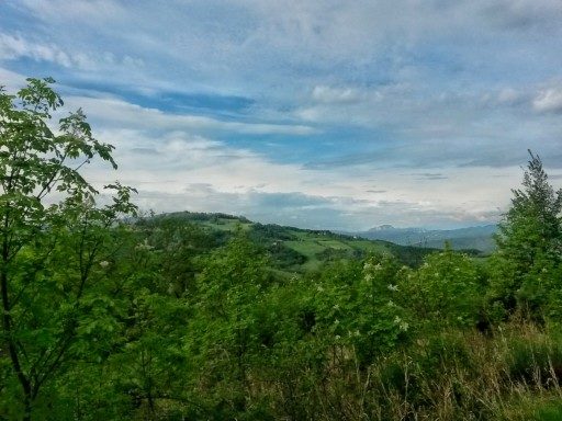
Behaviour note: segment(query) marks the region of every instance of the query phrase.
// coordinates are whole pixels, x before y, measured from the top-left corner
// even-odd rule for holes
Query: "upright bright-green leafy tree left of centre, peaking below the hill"
[[[263,259],[240,231],[210,255],[198,278],[193,334],[186,346],[192,363],[205,367],[205,382],[218,390],[233,382],[247,384],[250,359],[261,345],[257,309],[270,283]],[[229,406],[243,405],[237,396],[228,399]]]

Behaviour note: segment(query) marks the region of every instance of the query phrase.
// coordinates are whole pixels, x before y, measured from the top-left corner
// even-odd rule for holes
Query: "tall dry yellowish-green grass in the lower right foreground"
[[[562,340],[531,323],[440,332],[367,368],[352,349],[329,354],[256,371],[248,401],[282,420],[562,419]]]

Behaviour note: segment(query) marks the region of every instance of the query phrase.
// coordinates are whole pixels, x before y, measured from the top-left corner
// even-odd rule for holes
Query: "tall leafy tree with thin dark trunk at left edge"
[[[136,209],[133,189],[119,183],[105,187],[113,202],[97,206],[80,169],[95,157],[116,169],[113,147],[92,137],[81,110],[49,126],[63,105],[52,83],[27,79],[15,95],[0,87],[0,359],[11,368],[7,391],[21,400],[12,418],[23,420],[76,354],[87,315],[100,306],[88,293],[109,230]]]

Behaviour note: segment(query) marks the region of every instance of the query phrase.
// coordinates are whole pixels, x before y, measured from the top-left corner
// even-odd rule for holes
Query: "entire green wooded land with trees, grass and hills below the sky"
[[[562,191],[490,255],[139,212],[50,79],[0,91],[0,420],[562,419]],[[108,200],[111,197],[111,200]]]

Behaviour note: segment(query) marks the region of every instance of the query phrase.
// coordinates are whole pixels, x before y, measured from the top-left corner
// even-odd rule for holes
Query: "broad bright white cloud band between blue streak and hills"
[[[508,203],[509,187],[520,177],[517,167],[495,170],[502,177],[494,183],[483,168],[434,170],[440,178],[398,169],[310,170],[183,132],[154,138],[142,130],[109,129],[98,137],[117,145],[117,175],[138,189],[144,208],[227,212],[303,227],[488,221],[498,217],[498,205]],[[115,178],[105,167],[88,171],[98,185]],[[370,192],[373,185],[376,194]]]

